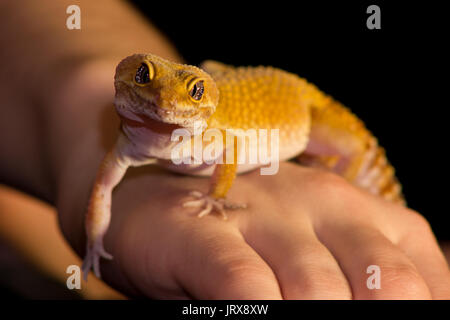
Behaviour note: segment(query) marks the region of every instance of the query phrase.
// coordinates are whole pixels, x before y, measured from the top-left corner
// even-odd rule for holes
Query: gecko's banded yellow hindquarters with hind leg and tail
[[[351,110],[314,85],[309,143],[297,161],[321,167],[391,202],[406,205],[402,187],[377,138]]]

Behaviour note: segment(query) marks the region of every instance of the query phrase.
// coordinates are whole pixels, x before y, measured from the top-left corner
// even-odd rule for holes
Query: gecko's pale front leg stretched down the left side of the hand
[[[112,255],[103,247],[103,237],[111,220],[111,193],[122,180],[129,164],[123,159],[117,144],[103,159],[94,182],[86,213],[85,228],[87,234],[86,256],[83,261],[83,278],[91,268],[100,278],[100,257],[111,260]]]

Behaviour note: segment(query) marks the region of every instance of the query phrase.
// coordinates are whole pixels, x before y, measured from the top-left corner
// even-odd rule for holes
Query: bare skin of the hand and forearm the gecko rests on
[[[54,2],[42,2],[38,9],[32,3],[11,10],[23,10],[25,16],[36,10],[65,14],[65,7],[72,4],[61,1],[55,8]],[[91,3],[81,6],[89,10]],[[80,254],[85,248],[84,212],[92,181],[117,136],[119,119],[112,108],[115,65],[134,52],[158,51],[177,59],[170,46],[155,38],[151,27],[136,22],[127,7],[106,7],[111,12],[99,12],[98,21],[110,31],[114,26],[108,24],[107,15],[115,13],[153,41],[145,48],[132,47],[133,41],[108,39],[102,30],[87,29],[85,36],[94,38],[99,32],[115,51],[106,55],[102,44],[93,41],[84,46],[64,42],[69,51],[74,49],[70,52],[89,49],[98,56],[63,74],[39,59],[54,54],[53,60],[64,61],[66,51],[55,53],[51,46],[23,42],[35,48],[34,63],[46,71],[37,68],[42,81],[33,82],[23,96],[10,93],[24,89],[21,80],[29,70],[23,61],[31,52],[15,49],[12,43],[3,46],[14,53],[8,63],[17,73],[15,77],[1,73],[9,115],[0,120],[0,148],[8,155],[1,157],[2,180],[57,205],[62,230]],[[7,12],[3,9],[0,12]],[[65,39],[67,34],[58,33],[59,18],[48,15],[53,16],[55,21],[49,18],[39,27],[33,19],[26,21],[30,28],[55,30],[58,43],[58,36]],[[135,34],[115,31],[108,35],[126,39]],[[21,36],[28,39],[25,31]],[[2,34],[0,41],[5,37]],[[44,90],[48,83],[59,86],[49,93]],[[27,112],[36,99],[42,102],[36,107],[39,117]],[[190,190],[208,190],[208,180],[173,175],[155,166],[129,170],[113,193],[104,246],[114,259],[102,261],[105,281],[127,294],[156,298],[450,297],[448,265],[428,223],[418,213],[360,191],[334,174],[285,163],[275,176],[262,177],[257,171],[239,176],[229,197],[236,202],[252,199],[252,205],[245,213],[229,212],[227,222],[216,215],[198,219],[195,208],[181,210]],[[366,287],[365,270],[372,264],[381,267],[381,290]]]

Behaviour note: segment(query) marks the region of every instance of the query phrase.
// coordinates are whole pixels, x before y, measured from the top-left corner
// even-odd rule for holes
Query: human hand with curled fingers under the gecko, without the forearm
[[[333,174],[284,163],[274,176],[239,176],[229,198],[249,208],[223,221],[181,207],[188,191],[207,189],[207,179],[130,171],[113,194],[105,238],[114,260],[101,262],[104,279],[128,294],[450,298],[450,271],[424,218]],[[84,236],[75,226],[71,232]],[[381,289],[367,288],[370,265],[380,267]]]

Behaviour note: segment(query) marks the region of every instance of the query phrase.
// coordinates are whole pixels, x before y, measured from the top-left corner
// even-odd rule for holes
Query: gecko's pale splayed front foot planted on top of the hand
[[[189,193],[190,196],[196,198],[196,200],[189,200],[183,203],[183,207],[192,207],[192,208],[203,208],[198,217],[201,218],[211,213],[211,211],[218,211],[224,220],[228,219],[227,214],[225,212],[226,209],[236,210],[236,209],[245,209],[247,208],[246,204],[238,204],[229,202],[223,198],[214,198],[210,195],[203,194],[199,191],[192,191]]]

